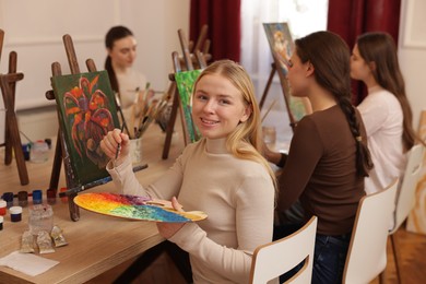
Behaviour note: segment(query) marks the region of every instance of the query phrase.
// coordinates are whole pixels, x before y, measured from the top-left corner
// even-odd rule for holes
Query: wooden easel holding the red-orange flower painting
[[[70,35],[64,35],[62,37],[63,45],[67,52],[68,63],[70,66],[71,74],[79,74],[80,68],[75,56],[74,45],[72,43]],[[86,60],[86,67],[90,72],[96,71],[96,66],[92,59]],[[59,62],[54,62],[51,64],[51,72],[54,76],[62,75],[61,66]],[[46,92],[46,98],[47,99],[55,99],[55,93],[54,91]],[[58,116],[60,116],[58,110]],[[58,184],[59,184],[59,175],[61,170],[61,164],[63,161],[64,171],[66,171],[66,180],[67,180],[67,188],[74,189],[78,187],[81,187],[81,185],[76,184],[76,180],[74,178],[74,173],[72,170],[71,166],[71,159],[70,154],[67,150],[66,145],[66,139],[64,133],[59,127],[58,130],[58,137],[57,137],[57,143],[55,149],[55,158],[54,158],[54,165],[51,168],[51,176],[50,176],[50,185],[49,189],[52,189],[55,192],[57,192]],[[99,184],[98,184],[99,185]],[[85,187],[87,189],[88,187]],[[73,199],[76,196],[76,192],[69,192],[68,194],[68,205],[70,210],[70,217],[72,221],[79,221],[80,220],[80,211],[79,208],[74,204]]]

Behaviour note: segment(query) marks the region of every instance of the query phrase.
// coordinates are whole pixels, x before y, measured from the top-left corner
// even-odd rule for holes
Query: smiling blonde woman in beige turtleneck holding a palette
[[[118,129],[102,142],[107,166],[127,194],[171,200],[205,221],[157,223],[159,234],[189,252],[194,283],[247,283],[251,253],[272,240],[274,174],[259,154],[259,108],[247,72],[229,60],[204,69],[194,84],[192,118],[202,134],[156,182],[143,187],[132,173],[129,138]],[[115,165],[115,166],[114,166]]]

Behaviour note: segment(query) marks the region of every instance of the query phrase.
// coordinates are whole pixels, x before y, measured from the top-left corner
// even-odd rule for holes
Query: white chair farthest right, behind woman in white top
[[[397,193],[397,205],[395,211],[393,212],[394,225],[393,228],[389,232],[399,283],[401,283],[398,264],[399,253],[395,245],[397,239],[394,238],[393,234],[400,228],[402,223],[404,223],[410,212],[414,208],[417,181],[423,165],[424,149],[425,147],[422,144],[417,144],[414,145],[407,153],[406,168],[403,179],[401,180],[401,186]]]

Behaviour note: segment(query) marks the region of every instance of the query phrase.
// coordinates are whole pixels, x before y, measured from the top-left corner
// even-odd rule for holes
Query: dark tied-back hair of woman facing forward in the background
[[[114,43],[118,39],[125,38],[127,36],[132,36],[133,33],[127,28],[126,26],[118,25],[118,26],[113,26],[108,33],[105,36],[105,47],[108,49],[113,49]],[[116,76],[116,72],[114,71],[113,68],[113,62],[111,58],[109,55],[107,56],[105,60],[105,70],[108,72],[109,76],[109,82],[111,84],[111,88],[114,92],[119,92],[119,85]]]

